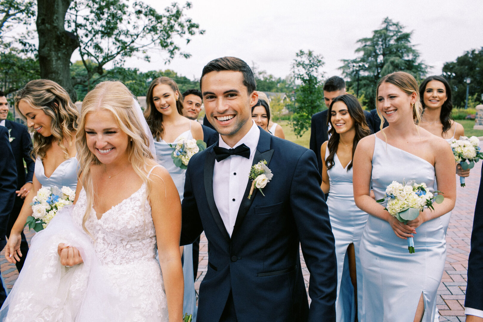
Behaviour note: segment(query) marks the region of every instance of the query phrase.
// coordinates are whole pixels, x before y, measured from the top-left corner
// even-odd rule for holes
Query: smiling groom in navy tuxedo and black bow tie
[[[200,87],[220,139],[186,170],[181,243],[204,230],[209,246],[198,321],[335,321],[334,237],[315,154],[255,125],[255,78],[241,59],[209,62]],[[263,160],[273,177],[248,198],[250,169]]]

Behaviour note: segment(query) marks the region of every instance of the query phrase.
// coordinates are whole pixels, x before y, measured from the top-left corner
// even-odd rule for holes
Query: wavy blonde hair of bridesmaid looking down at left
[[[15,110],[26,119],[25,115],[18,109],[20,101],[26,102],[32,108],[42,110],[45,115],[52,119],[50,131],[51,136],[44,137],[42,134],[33,131],[33,150],[31,155],[36,158],[39,156],[42,160],[45,153],[53,142],[57,141],[58,146],[64,152],[64,158],[68,159],[69,151],[64,146],[64,139],[75,136],[77,131],[77,120],[79,111],[72,103],[71,97],[67,91],[48,79],[37,79],[28,82],[15,95]]]

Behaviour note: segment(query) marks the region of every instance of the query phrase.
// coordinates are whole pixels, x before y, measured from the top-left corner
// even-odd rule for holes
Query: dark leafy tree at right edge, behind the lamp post
[[[455,61],[443,65],[443,76],[445,76],[453,89],[453,105],[464,107],[466,101],[466,82],[469,78],[469,95],[477,94],[476,101],[481,103],[483,94],[483,47],[472,49],[459,56]]]

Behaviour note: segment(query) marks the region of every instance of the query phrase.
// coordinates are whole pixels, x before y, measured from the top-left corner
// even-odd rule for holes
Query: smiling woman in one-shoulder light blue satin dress
[[[433,322],[446,259],[447,221],[441,217],[455,206],[455,159],[448,142],[417,126],[422,106],[412,75],[398,71],[379,80],[376,105],[389,126],[360,140],[354,154],[355,204],[370,215],[360,245],[361,321]],[[425,182],[432,192],[435,178],[444,201],[407,224],[369,196],[371,182],[381,199],[393,180]],[[408,252],[408,237],[414,237],[415,253]]]

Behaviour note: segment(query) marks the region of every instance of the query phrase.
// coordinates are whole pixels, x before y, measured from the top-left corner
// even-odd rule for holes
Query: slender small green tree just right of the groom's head
[[[298,137],[309,129],[312,115],[323,109],[322,66],[323,56],[311,50],[300,50],[292,63],[292,77],[300,85],[295,90],[294,101],[287,108],[294,112],[290,123]]]

